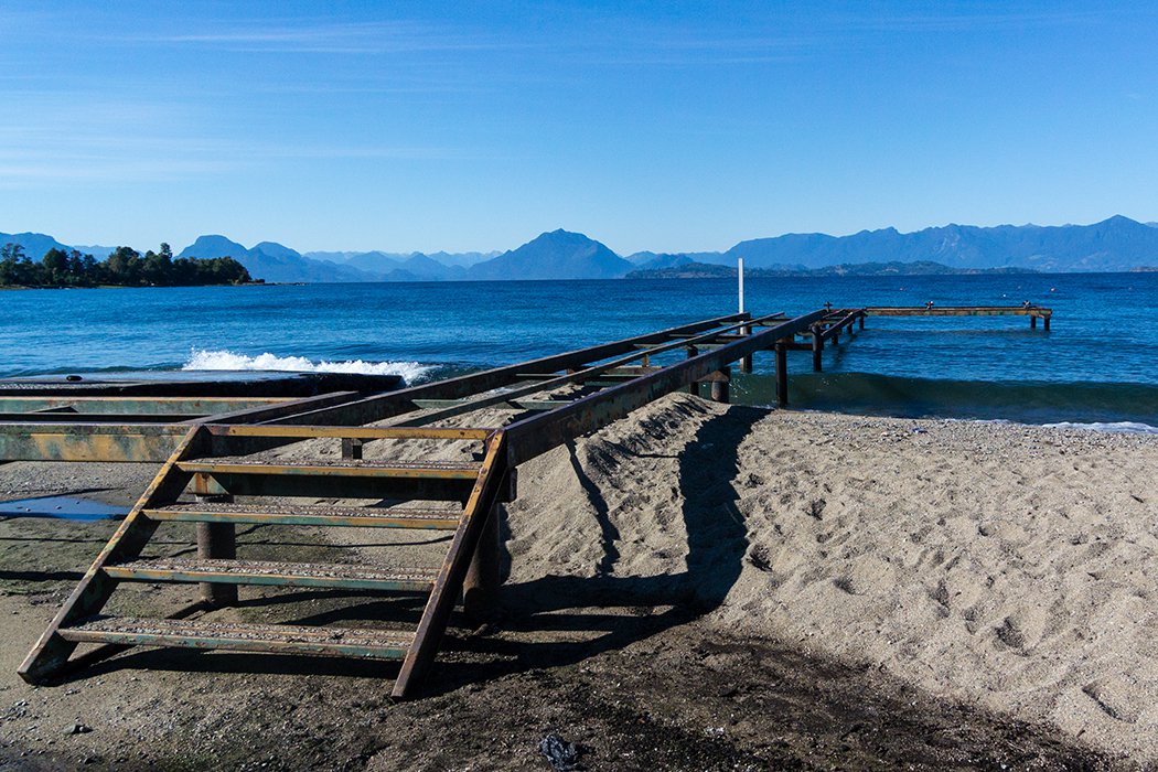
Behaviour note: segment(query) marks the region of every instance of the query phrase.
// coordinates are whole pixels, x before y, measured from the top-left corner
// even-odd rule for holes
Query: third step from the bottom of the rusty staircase
[[[251,523],[259,525],[342,525],[356,528],[416,528],[454,530],[462,520],[457,509],[381,509],[376,507],[259,506],[243,503],[176,503],[146,509],[151,520],[192,523]]]

